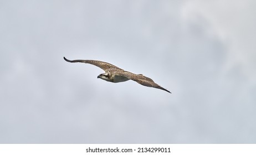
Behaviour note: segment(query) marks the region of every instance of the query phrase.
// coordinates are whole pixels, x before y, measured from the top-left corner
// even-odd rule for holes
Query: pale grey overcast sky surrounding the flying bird
[[[0,1],[0,143],[256,143],[255,1]],[[106,61],[172,94],[97,79]]]

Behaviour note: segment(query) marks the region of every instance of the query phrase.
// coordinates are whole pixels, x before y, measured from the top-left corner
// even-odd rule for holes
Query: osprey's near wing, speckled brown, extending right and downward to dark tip
[[[155,87],[157,89],[161,89],[161,90],[165,90],[167,92],[170,92],[167,89],[164,89],[160,85],[156,84],[149,77],[144,76],[142,74],[134,74],[134,73],[130,73],[129,71],[122,71],[121,73],[118,73],[118,75],[125,76],[125,77],[127,77],[127,78],[129,78],[131,80],[134,80],[134,81],[138,82],[139,84],[147,86],[147,87]]]

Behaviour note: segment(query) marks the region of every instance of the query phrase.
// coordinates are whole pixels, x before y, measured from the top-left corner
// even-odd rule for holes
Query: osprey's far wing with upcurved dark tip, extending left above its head
[[[64,57],[64,60],[68,61],[69,63],[87,63],[87,64],[92,64],[95,66],[98,66],[99,68],[103,69],[105,72],[112,70],[112,69],[117,69],[117,70],[123,70],[118,68],[115,65],[103,62],[103,61],[97,61],[97,60],[68,60]]]

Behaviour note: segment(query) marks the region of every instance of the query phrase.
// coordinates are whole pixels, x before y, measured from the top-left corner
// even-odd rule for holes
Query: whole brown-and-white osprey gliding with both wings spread
[[[98,78],[103,79],[105,81],[109,82],[124,82],[127,80],[134,80],[138,82],[141,85],[147,86],[147,87],[155,87],[157,89],[165,90],[167,92],[167,89],[164,89],[160,85],[156,84],[152,79],[149,77],[146,77],[142,74],[134,74],[129,71],[125,71],[123,69],[118,68],[115,65],[105,63],[103,61],[98,60],[68,60],[64,57],[64,60],[68,61],[69,63],[88,63],[95,66],[98,66],[99,68],[103,69],[105,73],[100,74]],[[171,93],[171,92],[170,92]]]

